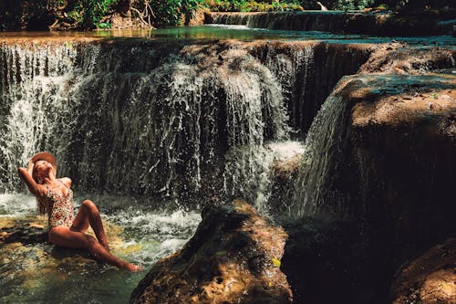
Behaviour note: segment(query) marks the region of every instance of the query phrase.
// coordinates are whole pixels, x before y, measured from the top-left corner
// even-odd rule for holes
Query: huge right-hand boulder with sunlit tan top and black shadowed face
[[[317,151],[326,157],[315,196],[324,203],[304,210],[323,224],[286,227],[284,272],[297,302],[384,303],[404,261],[454,235],[455,100],[456,79],[443,74],[339,81],[323,106],[337,106],[337,128],[316,132],[329,147]],[[319,296],[322,286],[337,299]]]

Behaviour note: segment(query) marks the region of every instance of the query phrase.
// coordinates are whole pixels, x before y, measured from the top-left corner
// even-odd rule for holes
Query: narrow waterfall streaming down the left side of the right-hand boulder
[[[344,88],[342,83],[346,81],[339,81],[337,89],[326,99],[307,133],[294,198],[289,208],[291,217],[316,215],[324,204],[338,212],[337,207],[343,208],[349,200],[337,191],[339,167],[347,145],[347,120],[352,106],[340,94],[340,88]]]

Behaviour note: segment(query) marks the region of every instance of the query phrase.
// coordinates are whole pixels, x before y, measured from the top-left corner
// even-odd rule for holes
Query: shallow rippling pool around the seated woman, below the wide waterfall
[[[85,197],[77,195],[76,204]],[[130,273],[101,265],[84,251],[34,241],[47,221],[35,215],[35,198],[0,194],[1,303],[127,303],[151,265],[178,250],[201,220],[199,213],[179,208],[154,211],[133,200],[127,204],[125,197],[96,198],[111,252],[146,270]],[[5,242],[6,233],[13,231],[26,236]]]

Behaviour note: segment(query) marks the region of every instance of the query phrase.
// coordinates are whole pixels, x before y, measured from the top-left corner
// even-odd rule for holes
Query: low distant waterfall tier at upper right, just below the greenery
[[[256,28],[323,31],[336,34],[363,34],[380,37],[450,35],[451,26],[424,19],[420,22],[393,20],[385,13],[344,11],[257,12],[205,14],[205,23],[244,25]]]

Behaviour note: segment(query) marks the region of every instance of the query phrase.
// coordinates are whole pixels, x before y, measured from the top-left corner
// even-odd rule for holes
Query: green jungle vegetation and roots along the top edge
[[[328,9],[432,11],[451,7],[453,0],[321,0]],[[269,12],[319,9],[316,0],[2,0],[3,30],[109,28],[111,17],[132,16],[143,26],[181,26],[195,11]],[[453,8],[452,8],[453,9]]]

